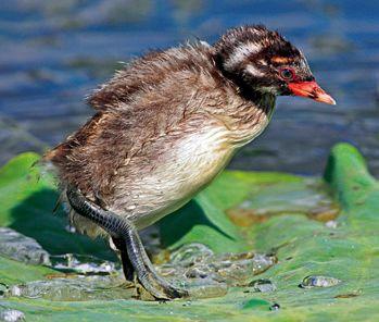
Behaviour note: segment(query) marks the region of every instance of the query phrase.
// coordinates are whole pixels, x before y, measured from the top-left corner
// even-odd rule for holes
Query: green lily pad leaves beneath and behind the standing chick
[[[36,160],[35,154],[23,154],[0,170],[0,202],[4,205],[0,223],[35,238],[50,253],[109,258],[100,242],[68,234],[64,219],[51,215],[56,193],[49,177],[35,181],[40,173],[29,166]],[[188,268],[195,261],[199,249],[181,248],[186,251],[176,257],[173,253],[189,243],[202,245],[205,256],[201,260],[205,261],[231,260],[236,252],[277,258],[277,263],[260,275],[252,272],[251,286],[229,287],[227,294],[216,298],[164,305],[131,298],[58,298],[52,302],[11,297],[2,300],[3,306],[24,312],[27,320],[39,321],[378,321],[378,182],[369,175],[357,150],[343,144],[332,149],[325,183],[320,183],[320,190],[316,187],[315,194],[323,197],[313,196],[314,186],[307,189],[305,197],[315,201],[312,207],[296,202],[304,200],[299,196],[307,183],[309,178],[289,174],[226,171],[191,203],[160,223],[167,259],[170,252],[178,265]],[[282,200],[279,195],[294,199]],[[276,208],[270,200],[276,200]],[[323,207],[338,209],[337,213],[330,218],[309,215],[313,207],[320,208],[320,200],[326,202]],[[245,210],[241,205],[248,205],[244,208],[262,220],[233,224],[228,215],[230,210]],[[47,281],[58,273],[0,257],[0,282],[10,287]],[[201,274],[199,270],[192,273]],[[267,281],[275,285],[268,287],[270,292],[254,289],[263,286],[265,290]],[[302,283],[311,287],[299,287]]]

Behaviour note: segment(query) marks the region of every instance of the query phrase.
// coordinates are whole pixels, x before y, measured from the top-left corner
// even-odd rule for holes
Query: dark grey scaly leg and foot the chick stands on
[[[103,210],[88,200],[78,189],[68,186],[67,199],[73,209],[80,215],[91,220],[111,235],[122,252],[125,277],[130,280],[129,263],[137,274],[139,283],[157,299],[174,299],[188,296],[188,292],[177,288],[155,272],[139,238],[137,228],[126,218],[112,211]],[[126,250],[126,251],[125,251]]]

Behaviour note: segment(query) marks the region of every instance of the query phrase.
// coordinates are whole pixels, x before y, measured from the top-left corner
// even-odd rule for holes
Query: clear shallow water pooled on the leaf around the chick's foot
[[[138,294],[138,298],[153,299],[140,285],[137,285],[137,292],[134,283],[125,281],[122,271],[116,270],[115,265],[109,265],[106,271],[99,270],[104,265],[99,265],[100,260],[96,258],[66,255],[60,258],[52,257],[52,261],[53,268],[62,271],[62,274],[51,274],[43,281],[2,285],[4,289],[1,290],[1,295],[77,301],[128,299]],[[274,255],[214,255],[205,245],[189,244],[174,251],[169,260],[156,269],[164,278],[186,288],[192,299],[224,296],[229,286],[248,285],[255,275],[268,270],[276,262],[277,258]],[[67,273],[64,273],[65,271]],[[270,292],[274,287],[260,285],[261,292]]]

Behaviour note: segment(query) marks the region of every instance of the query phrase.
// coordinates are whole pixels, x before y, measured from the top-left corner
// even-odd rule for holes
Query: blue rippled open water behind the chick
[[[379,174],[378,1],[4,0],[0,3],[0,162],[83,124],[84,97],[119,61],[230,26],[279,28],[338,101],[280,98],[269,128],[231,168],[320,173],[330,147],[357,145]]]

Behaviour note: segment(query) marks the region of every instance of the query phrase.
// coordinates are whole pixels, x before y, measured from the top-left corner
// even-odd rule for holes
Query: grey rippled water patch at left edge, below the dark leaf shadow
[[[51,264],[49,252],[37,240],[8,227],[0,227],[0,255],[27,264]]]

